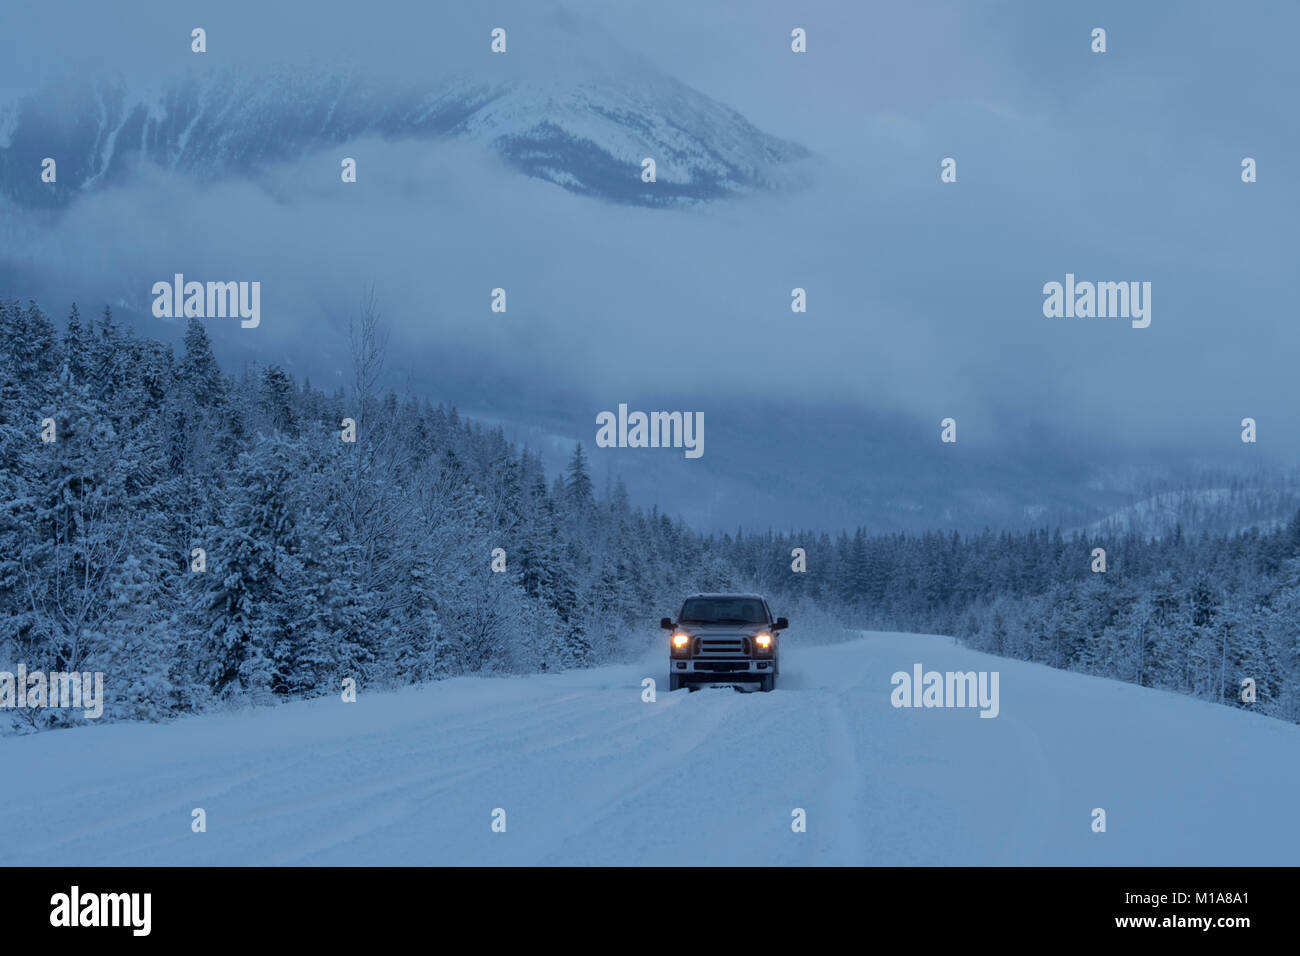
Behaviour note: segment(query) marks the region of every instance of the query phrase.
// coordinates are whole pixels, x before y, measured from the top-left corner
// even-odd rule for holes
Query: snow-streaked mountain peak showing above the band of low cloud
[[[57,108],[51,108],[56,104]],[[148,90],[77,81],[0,105],[0,194],[57,207],[133,159],[214,178],[360,137],[458,137],[520,172],[612,202],[672,206],[790,182],[806,151],[649,66],[412,86],[359,72],[212,74]],[[58,177],[40,181],[44,157]],[[656,182],[641,181],[653,157]]]

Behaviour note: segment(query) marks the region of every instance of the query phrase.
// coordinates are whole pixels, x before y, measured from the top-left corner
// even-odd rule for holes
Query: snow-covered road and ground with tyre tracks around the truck
[[[9,737],[0,865],[1300,862],[1300,727],[949,637],[784,654],[770,695],[655,654]],[[894,709],[916,662],[1000,671],[998,717]]]

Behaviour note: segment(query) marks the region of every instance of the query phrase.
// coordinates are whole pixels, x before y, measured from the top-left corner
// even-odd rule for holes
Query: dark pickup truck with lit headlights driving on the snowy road
[[[762,594],[692,594],[677,619],[663,618],[670,631],[668,689],[690,684],[757,683],[776,687],[781,672],[780,635],[790,626],[774,618]]]

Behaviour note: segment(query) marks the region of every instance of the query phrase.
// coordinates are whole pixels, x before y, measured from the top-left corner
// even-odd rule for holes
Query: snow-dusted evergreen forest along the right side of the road
[[[859,627],[952,633],[982,650],[1300,722],[1300,514],[1271,532],[1179,527],[1162,538],[858,531],[715,545],[742,578]],[[793,548],[807,550],[805,574],[789,574]]]

